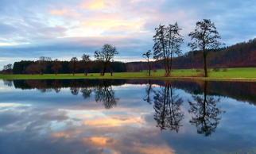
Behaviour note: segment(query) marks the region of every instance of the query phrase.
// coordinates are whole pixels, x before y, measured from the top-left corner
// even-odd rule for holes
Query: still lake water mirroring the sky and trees
[[[0,80],[0,153],[256,153],[256,83]]]

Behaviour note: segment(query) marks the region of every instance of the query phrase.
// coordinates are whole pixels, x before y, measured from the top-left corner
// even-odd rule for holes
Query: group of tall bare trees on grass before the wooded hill
[[[173,67],[173,56],[180,56],[180,45],[183,43],[183,37],[180,35],[180,27],[177,23],[173,25],[159,25],[153,36],[153,59],[161,61],[165,68],[165,76],[170,76]],[[194,31],[188,34],[191,37],[191,42],[188,46],[193,51],[199,50],[204,56],[204,76],[208,77],[207,56],[208,52],[219,48],[222,43],[219,42],[220,36],[215,27],[215,24],[210,19],[196,22]],[[151,63],[149,57],[151,51],[146,52],[143,56],[146,57],[149,67],[149,75],[151,71]]]

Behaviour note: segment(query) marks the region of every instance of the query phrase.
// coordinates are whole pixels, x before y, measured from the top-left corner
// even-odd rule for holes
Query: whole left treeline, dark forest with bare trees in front
[[[95,51],[95,60],[91,60],[90,56],[83,54],[82,60],[72,57],[70,61],[52,60],[50,57],[41,56],[37,61],[21,61],[15,62],[14,68],[12,64],[4,67],[3,74],[58,74],[58,73],[84,73],[99,72],[100,75],[111,72],[124,72],[126,66],[122,62],[114,62],[114,56],[118,52],[111,44],[104,44],[103,48]]]

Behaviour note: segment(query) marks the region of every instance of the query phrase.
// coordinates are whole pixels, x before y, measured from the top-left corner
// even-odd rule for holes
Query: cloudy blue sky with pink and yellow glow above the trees
[[[115,60],[142,60],[159,24],[178,22],[188,52],[196,21],[211,19],[223,43],[256,37],[254,0],[0,0],[0,69],[40,56],[70,60],[93,57],[103,44],[118,49]]]

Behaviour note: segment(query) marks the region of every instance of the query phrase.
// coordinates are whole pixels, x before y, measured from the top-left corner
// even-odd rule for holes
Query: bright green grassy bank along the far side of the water
[[[142,72],[123,72],[114,73],[111,76],[107,73],[100,76],[99,73],[83,74],[45,74],[45,75],[0,75],[0,79],[200,79],[200,80],[219,80],[219,81],[254,81],[256,82],[256,67],[246,68],[227,68],[213,71],[210,69],[209,77],[202,77],[203,72],[196,69],[178,69],[172,72],[172,77],[163,77],[165,71],[157,70],[152,72],[152,76],[147,75],[147,71]]]

